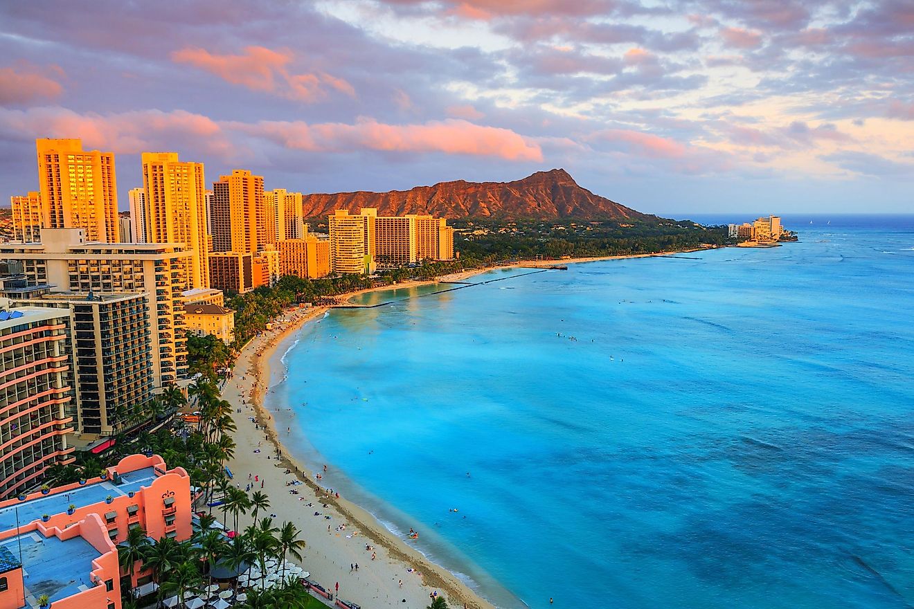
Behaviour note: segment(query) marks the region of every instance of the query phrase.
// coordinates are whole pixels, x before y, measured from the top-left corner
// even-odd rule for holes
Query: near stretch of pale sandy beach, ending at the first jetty
[[[282,319],[289,320],[288,323],[280,321],[274,330],[250,341],[239,354],[233,376],[222,390],[223,398],[235,406],[238,425],[234,435],[235,457],[228,463],[234,481],[245,488],[250,474],[254,485],[251,492],[260,490],[263,482],[262,490],[269,496],[271,507],[266,513],[258,514],[258,518],[274,513],[277,515],[274,524],[294,522],[308,544],[303,552],[303,568],[311,572],[310,579],[328,591],[333,591],[338,582],[340,598],[367,609],[418,609],[428,605],[429,594],[437,591],[447,597],[452,607],[462,607],[465,603],[468,607],[493,609],[492,604],[473,593],[451,572],[399,540],[366,510],[345,498],[327,497],[323,489],[332,486],[327,479],[333,478],[332,472],[323,480],[314,480],[304,464],[290,458],[282,446],[285,430],[277,434],[271,414],[262,405],[264,393],[269,390],[271,363],[281,365],[281,354],[275,352],[275,347],[304,322],[322,317],[326,310],[316,307],[287,313]],[[282,451],[281,459],[276,458],[276,449]],[[296,473],[296,468],[303,473]],[[287,469],[292,473],[285,474]],[[254,476],[260,478],[256,483]],[[287,486],[293,480],[301,480],[303,484]],[[291,494],[292,489],[299,494]],[[309,503],[313,505],[309,507]],[[324,508],[324,504],[328,507]],[[315,511],[321,516],[314,516]],[[330,520],[324,519],[325,515]],[[222,517],[221,511],[218,516]],[[232,519],[229,515],[228,520]],[[239,517],[239,529],[243,530],[251,520],[250,514]],[[337,530],[343,524],[345,530]],[[377,553],[375,560],[371,558],[372,551],[366,551],[366,544]],[[358,563],[358,572],[350,570],[353,563]]]

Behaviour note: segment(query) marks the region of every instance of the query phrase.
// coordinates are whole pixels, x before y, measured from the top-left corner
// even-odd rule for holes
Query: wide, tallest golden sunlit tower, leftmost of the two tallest
[[[36,140],[41,226],[83,228],[90,241],[117,243],[113,152],[83,151],[80,140]]]

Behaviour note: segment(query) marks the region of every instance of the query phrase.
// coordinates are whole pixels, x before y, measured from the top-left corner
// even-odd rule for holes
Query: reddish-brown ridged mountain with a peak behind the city
[[[358,213],[377,207],[378,215],[430,214],[445,218],[535,218],[655,220],[581,188],[564,169],[537,172],[515,182],[441,182],[388,193],[306,194],[305,217]]]

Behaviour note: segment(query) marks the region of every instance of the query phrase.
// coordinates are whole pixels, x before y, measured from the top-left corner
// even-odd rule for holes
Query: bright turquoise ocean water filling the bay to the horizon
[[[501,606],[909,607],[914,218],[785,223],[368,297],[396,300],[303,329],[272,399],[326,486]]]

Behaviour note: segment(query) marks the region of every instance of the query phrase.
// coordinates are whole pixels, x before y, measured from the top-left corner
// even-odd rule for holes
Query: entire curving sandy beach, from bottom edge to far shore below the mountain
[[[331,590],[334,585],[331,583],[331,579],[342,582],[347,575],[352,575],[351,571],[345,571],[345,561],[349,560],[349,558],[352,559],[350,560],[350,563],[358,562],[359,558],[364,561],[362,564],[365,566],[368,566],[370,563],[370,568],[373,571],[377,570],[377,567],[380,566],[378,563],[384,565],[385,568],[381,569],[381,571],[387,571],[387,573],[380,578],[371,578],[373,581],[370,583],[362,582],[359,574],[356,574],[356,578],[360,579],[359,583],[361,586],[356,587],[352,592],[349,592],[345,588],[341,588],[341,598],[352,600],[368,609],[375,609],[376,606],[403,607],[404,600],[407,602],[406,606],[411,607],[413,604],[425,606],[425,604],[428,604],[429,594],[432,591],[441,591],[452,607],[463,605],[473,609],[494,609],[494,604],[485,600],[479,593],[476,593],[453,572],[440,564],[431,561],[430,558],[420,551],[411,548],[405,541],[400,540],[392,531],[388,530],[374,514],[367,511],[367,509],[343,497],[336,498],[333,495],[328,496],[325,488],[322,487],[324,480],[315,480],[314,477],[309,476],[306,465],[289,454],[287,447],[283,445],[281,436],[276,429],[276,420],[273,418],[270,410],[265,404],[267,394],[271,391],[273,386],[271,367],[273,365],[276,367],[284,365],[282,363],[284,352],[278,350],[279,346],[286,339],[291,338],[295,332],[300,331],[305,323],[309,321],[319,322],[318,318],[323,317],[324,314],[331,309],[346,306],[351,307],[353,305],[351,304],[350,299],[369,292],[409,289],[441,282],[461,282],[473,278],[476,275],[498,269],[547,268],[551,266],[597,262],[602,260],[669,256],[672,254],[704,251],[707,249],[717,249],[717,247],[700,247],[689,250],[657,252],[654,254],[520,261],[509,265],[473,268],[435,279],[408,280],[400,282],[399,284],[356,290],[355,292],[344,295],[339,300],[340,304],[336,306],[319,306],[311,307],[306,310],[287,311],[282,315],[280,320],[273,322],[273,330],[261,332],[260,335],[254,337],[242,348],[232,369],[232,375],[223,385],[223,398],[227,399],[230,404],[235,406],[239,414],[244,415],[243,420],[241,417],[236,420],[238,431],[235,434],[235,439],[238,444],[238,450],[236,456],[229,461],[232,471],[242,478],[244,473],[250,474],[251,472],[258,471],[257,465],[263,465],[262,459],[264,453],[260,452],[260,447],[262,446],[262,442],[265,441],[271,445],[271,452],[274,454],[274,457],[272,458],[267,457],[268,463],[266,465],[280,467],[282,468],[282,471],[288,470],[290,472],[287,475],[283,474],[283,476],[286,477],[286,479],[283,480],[285,486],[289,486],[287,483],[293,478],[297,481],[295,485],[296,489],[302,488],[303,486],[307,488],[308,495],[306,499],[314,498],[314,501],[310,501],[309,503],[319,503],[320,506],[326,506],[325,508],[321,508],[320,506],[315,505],[314,509],[323,510],[322,514],[324,515],[332,513],[330,519],[332,524],[344,521],[346,527],[353,528],[354,532],[350,535],[345,535],[344,537],[341,535],[342,531],[337,530],[335,532],[333,526],[328,526],[327,531],[321,530],[317,534],[319,536],[320,533],[329,533],[330,541],[328,543],[314,541],[313,535],[316,532],[314,526],[303,526],[307,523],[314,525],[314,512],[308,510],[302,512],[302,506],[298,505],[297,507],[299,509],[297,511],[300,512],[300,515],[297,518],[295,517],[296,506],[294,504],[303,501],[305,498],[301,497],[300,494],[298,499],[295,499],[295,496],[292,496],[292,499],[286,499],[284,495],[279,494],[279,497],[286,499],[285,501],[282,501],[283,505],[281,506],[278,501],[279,497],[270,493],[269,487],[274,486],[273,480],[270,480],[271,484],[267,487],[261,487],[270,495],[270,509],[276,510],[276,520],[293,521],[296,523],[296,526],[299,526],[299,529],[303,531],[303,535],[305,536],[304,539],[308,542],[308,547],[305,549],[306,558],[305,561],[303,561],[303,567],[312,572],[312,577],[310,579],[321,583],[328,591]],[[284,320],[288,320],[288,322]],[[276,362],[273,362],[274,359]],[[288,372],[288,369],[286,369],[285,373],[287,374]],[[241,382],[239,382],[239,376]],[[254,442],[257,443],[256,449],[254,448]],[[250,452],[247,455],[258,455],[260,459],[251,459],[250,457],[244,458],[247,457],[243,452],[244,448],[250,449]],[[258,452],[254,453],[254,450],[258,450]],[[276,454],[279,454],[281,457],[275,457]],[[257,463],[259,460],[260,463]],[[251,463],[251,461],[254,461],[254,463]],[[260,474],[260,476],[262,476],[262,474]],[[265,476],[263,478],[266,479]],[[275,478],[275,473],[271,472],[270,478]],[[254,490],[254,488],[251,488],[251,490]],[[292,491],[290,490],[289,492]],[[286,493],[286,495],[288,495],[288,493]],[[290,501],[292,502],[292,505],[289,505]],[[312,509],[310,505],[308,509]],[[303,518],[303,516],[306,515],[310,516],[310,519]],[[317,523],[319,526],[323,526],[325,521],[324,518],[321,518]],[[239,528],[243,528],[248,523],[250,523],[250,518],[248,516],[241,516],[239,518]],[[373,550],[377,551],[377,559],[379,560],[368,560],[369,556],[365,551],[364,546],[366,544],[363,543],[363,540],[377,544],[377,546],[373,546]],[[317,548],[319,554],[324,556],[324,563],[312,564],[311,561],[308,560],[309,556],[312,555],[311,551],[314,548]],[[340,560],[340,554],[344,555],[342,562]],[[363,566],[363,571],[364,570],[365,567]],[[414,575],[417,574],[420,577],[414,577]],[[396,599],[391,598],[391,593],[394,592],[396,592]],[[387,603],[382,600],[382,594],[386,596]]]

